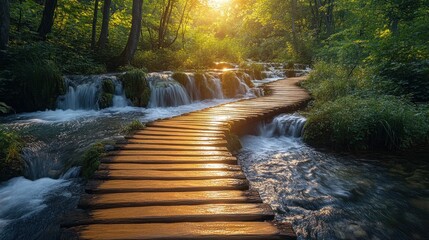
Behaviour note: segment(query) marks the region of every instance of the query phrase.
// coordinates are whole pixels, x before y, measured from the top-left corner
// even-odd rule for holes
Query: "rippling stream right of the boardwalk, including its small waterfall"
[[[429,239],[427,154],[334,154],[305,145],[305,118],[280,115],[241,138],[239,160],[299,239]]]

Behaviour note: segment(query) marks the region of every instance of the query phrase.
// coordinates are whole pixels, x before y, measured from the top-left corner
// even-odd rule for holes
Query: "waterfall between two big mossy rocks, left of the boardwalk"
[[[168,75],[150,74],[148,80],[151,89],[149,107],[177,107],[192,102],[185,87]]]

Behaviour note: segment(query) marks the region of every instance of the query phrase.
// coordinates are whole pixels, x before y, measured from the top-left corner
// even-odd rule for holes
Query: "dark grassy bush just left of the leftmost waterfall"
[[[24,62],[16,66],[18,87],[16,102],[11,104],[18,111],[37,111],[56,108],[58,96],[65,94],[66,87],[61,72],[52,61]]]

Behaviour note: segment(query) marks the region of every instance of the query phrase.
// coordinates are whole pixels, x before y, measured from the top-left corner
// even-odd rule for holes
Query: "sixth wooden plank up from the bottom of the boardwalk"
[[[179,171],[179,170],[226,170],[226,171],[241,171],[240,166],[223,164],[223,163],[205,163],[205,164],[139,164],[139,163],[111,163],[101,164],[99,170],[165,170],[165,171]]]

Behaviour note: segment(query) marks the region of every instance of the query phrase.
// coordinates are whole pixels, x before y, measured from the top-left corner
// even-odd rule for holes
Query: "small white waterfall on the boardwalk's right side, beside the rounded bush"
[[[271,123],[259,127],[260,135],[264,137],[288,136],[299,138],[302,136],[306,119],[298,114],[282,114]]]

